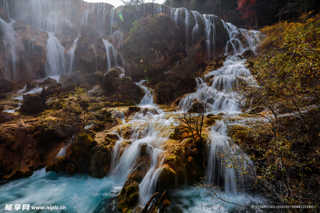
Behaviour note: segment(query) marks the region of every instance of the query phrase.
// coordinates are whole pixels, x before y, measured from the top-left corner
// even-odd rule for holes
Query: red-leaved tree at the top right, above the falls
[[[238,0],[238,10],[241,10],[242,18],[248,19],[254,16],[255,30],[258,30],[258,0]]]

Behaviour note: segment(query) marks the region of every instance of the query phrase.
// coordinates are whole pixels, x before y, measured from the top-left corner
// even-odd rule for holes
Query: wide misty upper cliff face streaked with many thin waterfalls
[[[177,54],[187,54],[193,44],[202,44],[206,58],[219,56],[230,39],[225,24],[213,15],[146,3],[139,16],[133,24],[132,6],[83,0],[14,0],[8,10],[0,5],[0,78],[106,73],[120,66],[126,76],[140,80],[170,65]],[[139,25],[143,32],[137,32]],[[50,44],[47,32],[54,33]]]

